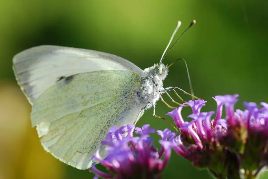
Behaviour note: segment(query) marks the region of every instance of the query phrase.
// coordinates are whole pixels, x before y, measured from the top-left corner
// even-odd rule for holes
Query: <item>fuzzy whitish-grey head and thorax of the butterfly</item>
[[[153,66],[143,70],[141,75],[141,86],[137,89],[137,97],[140,103],[149,104],[147,108],[150,108],[152,104],[155,104],[159,100],[158,91],[163,89],[163,81],[168,75],[167,65],[154,64]],[[157,90],[154,88],[157,87]]]

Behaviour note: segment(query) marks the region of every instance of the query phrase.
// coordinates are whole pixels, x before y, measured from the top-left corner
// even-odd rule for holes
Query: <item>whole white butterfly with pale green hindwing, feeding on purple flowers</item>
[[[68,165],[90,168],[110,127],[136,123],[151,107],[155,114],[159,93],[174,89],[163,88],[168,46],[160,63],[144,70],[116,55],[78,48],[42,45],[15,55],[16,80],[32,105],[32,127],[44,149]]]

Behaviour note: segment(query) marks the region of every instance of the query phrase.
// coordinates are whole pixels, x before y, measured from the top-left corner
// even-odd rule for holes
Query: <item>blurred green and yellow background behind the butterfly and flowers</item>
[[[178,20],[182,26],[176,37],[195,19],[196,25],[164,63],[185,58],[195,95],[208,101],[203,111],[215,110],[211,97],[224,94],[238,93],[236,107],[242,107],[242,101],[268,102],[267,9],[265,0],[0,0],[0,179],[93,177],[42,149],[31,128],[30,105],[13,75],[16,53],[44,44],[87,48],[121,56],[144,69],[159,62]],[[164,86],[190,91],[182,61],[170,68]],[[162,102],[157,103],[157,115],[169,111]],[[183,112],[186,118],[189,110]],[[151,109],[137,125],[143,124],[171,128],[154,118]],[[210,177],[173,153],[163,178]]]

